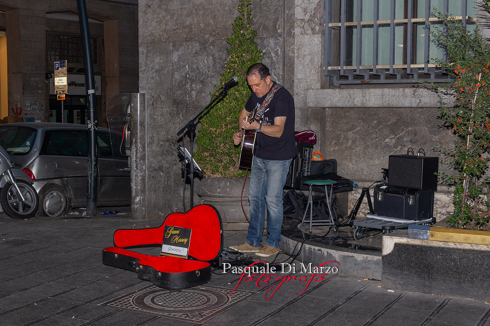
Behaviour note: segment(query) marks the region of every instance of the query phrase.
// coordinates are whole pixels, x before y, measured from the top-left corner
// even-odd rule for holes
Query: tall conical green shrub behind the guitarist
[[[264,56],[264,52],[254,41],[257,33],[251,27],[251,4],[251,0],[239,1],[239,15],[232,23],[233,34],[226,39],[230,57],[225,63],[221,84],[216,85],[216,90],[233,76],[238,77],[238,85],[230,88],[226,97],[200,119],[195,159],[206,176],[245,175],[244,171],[238,169],[240,147],[233,145],[232,136],[238,131],[240,111],[250,96],[245,79],[246,69],[252,64],[262,62]]]

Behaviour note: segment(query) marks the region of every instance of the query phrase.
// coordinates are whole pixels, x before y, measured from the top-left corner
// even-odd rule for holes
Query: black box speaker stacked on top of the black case
[[[390,155],[388,186],[408,189],[437,190],[439,157]]]

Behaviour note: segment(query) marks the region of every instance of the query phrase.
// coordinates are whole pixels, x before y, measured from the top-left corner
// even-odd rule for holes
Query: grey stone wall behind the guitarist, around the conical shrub
[[[139,1],[139,91],[146,93],[139,123],[147,142],[139,149],[146,156],[136,171],[145,182],[135,187],[139,212],[146,218],[182,210],[176,132],[206,106],[219,83],[226,37],[238,14],[237,0],[185,2]],[[438,155],[434,146],[451,145],[450,130],[438,120],[439,97],[425,87],[327,85],[324,0],[253,0],[252,14],[271,78],[294,95],[295,129],[317,132],[315,150],[337,159],[340,175],[366,186],[381,179],[390,154],[413,147],[432,156]],[[439,187],[438,219],[451,210],[449,193]],[[349,201],[358,196],[359,191],[350,193]]]

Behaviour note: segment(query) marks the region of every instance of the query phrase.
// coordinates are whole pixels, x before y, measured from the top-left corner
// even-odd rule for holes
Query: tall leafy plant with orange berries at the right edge
[[[466,30],[461,21],[439,15],[442,28],[432,31],[447,53],[447,61],[434,59],[452,78],[454,105],[443,103],[440,118],[456,135],[454,148],[440,149],[456,174],[441,173],[455,186],[454,212],[447,221],[458,228],[490,229],[490,178],[486,176],[490,149],[490,44]]]

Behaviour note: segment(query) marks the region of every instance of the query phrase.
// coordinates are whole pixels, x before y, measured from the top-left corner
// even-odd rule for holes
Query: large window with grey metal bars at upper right
[[[433,60],[447,59],[430,32],[442,23],[436,11],[475,28],[474,0],[326,0],[328,83],[446,81]]]

